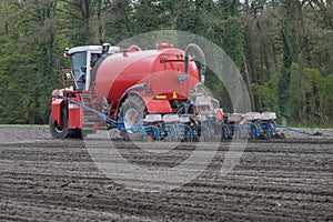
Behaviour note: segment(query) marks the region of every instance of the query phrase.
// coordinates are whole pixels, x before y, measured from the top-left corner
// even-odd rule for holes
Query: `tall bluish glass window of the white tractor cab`
[[[78,90],[84,89],[87,74],[87,52],[77,52],[71,56],[72,72],[77,82],[74,85]]]

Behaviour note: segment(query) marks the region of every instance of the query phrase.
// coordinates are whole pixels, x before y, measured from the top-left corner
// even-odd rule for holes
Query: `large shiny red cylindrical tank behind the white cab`
[[[173,99],[185,99],[199,82],[193,60],[190,60],[189,78],[184,82],[178,79],[184,74],[184,51],[169,44],[158,44],[157,50],[137,50],[107,57],[95,72],[95,93],[107,98],[113,108],[134,84],[147,83],[154,95],[173,94]]]

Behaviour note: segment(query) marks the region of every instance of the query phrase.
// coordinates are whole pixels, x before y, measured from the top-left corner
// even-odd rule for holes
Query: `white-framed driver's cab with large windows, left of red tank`
[[[88,91],[91,85],[92,69],[103,54],[115,53],[119,47],[84,46],[67,49],[64,57],[71,58],[71,73],[67,73],[64,79],[73,82],[73,90]]]

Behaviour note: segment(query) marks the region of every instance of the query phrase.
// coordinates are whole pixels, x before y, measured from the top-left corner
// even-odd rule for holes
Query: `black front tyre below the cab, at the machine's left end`
[[[50,132],[53,139],[63,140],[69,135],[68,114],[64,105],[61,108],[60,119],[60,122],[53,124],[50,115]]]

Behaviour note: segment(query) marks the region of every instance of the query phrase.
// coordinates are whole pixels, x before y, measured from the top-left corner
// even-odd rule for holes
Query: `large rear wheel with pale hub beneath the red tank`
[[[119,118],[125,120],[124,127],[131,128],[147,115],[147,108],[139,95],[129,95],[119,110]],[[143,141],[144,137],[140,132],[121,131],[124,141]]]

